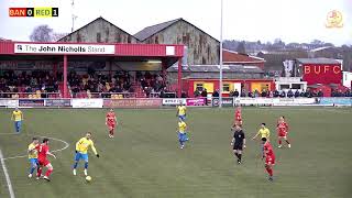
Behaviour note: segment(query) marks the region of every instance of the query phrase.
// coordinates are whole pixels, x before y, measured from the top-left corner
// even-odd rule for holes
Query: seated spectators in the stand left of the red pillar
[[[58,75],[59,77],[59,75]],[[14,70],[0,72],[0,98],[11,98],[13,92],[46,94],[58,92],[58,80],[47,70],[15,73]]]

